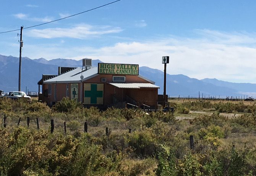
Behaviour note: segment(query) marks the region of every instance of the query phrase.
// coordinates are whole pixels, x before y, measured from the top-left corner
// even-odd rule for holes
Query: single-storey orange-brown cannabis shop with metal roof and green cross
[[[98,63],[83,59],[83,67],[58,67],[58,75],[43,75],[38,82],[39,100],[49,106],[63,97],[76,99],[84,107],[138,106],[157,109],[158,88],[139,75],[139,65]]]

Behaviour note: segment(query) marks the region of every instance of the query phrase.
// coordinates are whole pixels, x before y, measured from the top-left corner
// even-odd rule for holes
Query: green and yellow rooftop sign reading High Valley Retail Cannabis
[[[139,75],[139,65],[98,63],[98,74]]]

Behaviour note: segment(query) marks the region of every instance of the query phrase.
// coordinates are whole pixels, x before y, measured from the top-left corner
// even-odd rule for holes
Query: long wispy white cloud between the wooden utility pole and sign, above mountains
[[[79,24],[71,28],[47,28],[47,29],[32,29],[29,31],[29,36],[40,38],[88,38],[97,37],[103,34],[118,33],[122,31],[120,27],[111,26],[91,26],[87,24]]]

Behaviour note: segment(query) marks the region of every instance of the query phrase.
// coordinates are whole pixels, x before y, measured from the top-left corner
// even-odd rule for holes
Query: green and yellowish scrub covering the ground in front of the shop
[[[178,107],[177,112],[207,108],[252,112],[232,118],[216,113],[191,114],[183,120],[176,120],[177,112],[100,111],[97,107],[82,108],[69,99],[57,106],[50,109],[39,102],[0,99],[0,176],[256,175],[254,105],[207,101],[172,104]],[[29,127],[26,117],[31,119]],[[55,122],[53,133],[51,119]],[[80,130],[84,122],[88,133]],[[108,135],[105,127],[111,129]],[[190,135],[194,136],[194,150],[190,149]],[[243,146],[246,141],[250,145]]]

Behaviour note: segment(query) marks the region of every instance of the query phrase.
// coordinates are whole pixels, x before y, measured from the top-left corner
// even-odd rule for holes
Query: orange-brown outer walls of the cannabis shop
[[[141,88],[141,89],[119,89],[109,83],[112,82],[112,76],[110,74],[101,74],[96,77],[85,80],[83,83],[104,83],[104,105],[110,105],[113,103],[113,96],[118,98],[119,101],[125,101],[125,94],[130,96],[137,102],[144,103],[149,106],[155,106],[157,101],[157,88]],[[118,76],[118,75],[115,75]],[[124,75],[120,75],[124,76]],[[143,78],[140,78],[136,75],[125,75],[126,83],[150,83]],[[106,82],[101,82],[101,78],[106,78]],[[83,100],[83,83],[82,83],[82,100]],[[57,83],[57,99],[54,99],[54,84],[52,83],[52,94],[48,95],[48,97],[44,96],[44,90],[48,89],[48,84],[42,85],[42,94],[43,94],[43,102],[47,102],[50,106],[52,102],[60,101],[63,97],[66,97],[66,83]],[[69,98],[71,97],[69,83]],[[80,102],[80,87],[81,83],[78,83],[78,102]],[[146,102],[147,101],[147,102]],[[154,103],[153,103],[154,102]],[[139,105],[139,104],[138,104]]]

